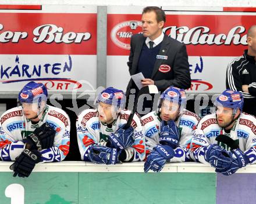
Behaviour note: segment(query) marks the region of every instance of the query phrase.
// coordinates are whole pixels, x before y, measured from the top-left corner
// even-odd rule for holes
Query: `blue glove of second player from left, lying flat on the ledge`
[[[90,147],[88,158],[93,163],[105,163],[106,165],[115,165],[118,163],[119,152],[116,148],[105,147],[93,144]]]

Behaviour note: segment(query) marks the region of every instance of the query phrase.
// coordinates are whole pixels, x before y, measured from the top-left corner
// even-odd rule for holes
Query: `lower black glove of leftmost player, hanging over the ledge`
[[[10,165],[10,170],[13,170],[13,177],[29,177],[35,167],[35,164],[40,162],[41,154],[37,150],[25,149],[22,154],[17,156],[15,162]]]

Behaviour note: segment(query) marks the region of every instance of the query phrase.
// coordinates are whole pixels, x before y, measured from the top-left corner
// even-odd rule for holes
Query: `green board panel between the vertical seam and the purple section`
[[[79,201],[215,204],[215,185],[215,173],[80,173]]]

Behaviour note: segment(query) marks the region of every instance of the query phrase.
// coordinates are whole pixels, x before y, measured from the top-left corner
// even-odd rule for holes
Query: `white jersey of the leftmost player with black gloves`
[[[0,118],[0,156],[3,161],[15,161],[24,150],[23,139],[35,128],[47,123],[56,131],[54,145],[41,150],[42,162],[62,161],[69,152],[70,120],[65,111],[47,105],[45,112],[36,125],[23,115],[22,107],[6,111]]]

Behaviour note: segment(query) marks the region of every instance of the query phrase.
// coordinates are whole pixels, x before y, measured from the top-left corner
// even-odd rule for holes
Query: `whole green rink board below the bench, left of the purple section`
[[[24,187],[26,204],[170,203],[215,204],[215,173],[41,173],[14,178],[0,173],[1,203],[10,203],[5,189]],[[15,192],[13,195],[16,195]]]

